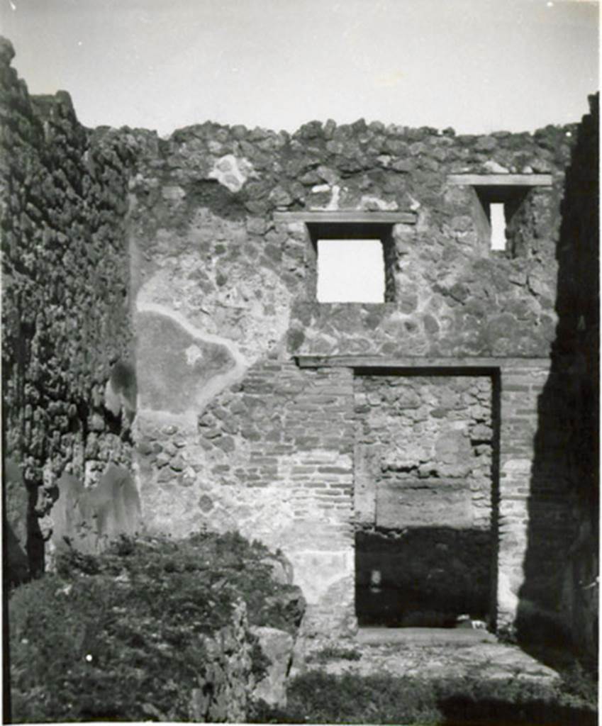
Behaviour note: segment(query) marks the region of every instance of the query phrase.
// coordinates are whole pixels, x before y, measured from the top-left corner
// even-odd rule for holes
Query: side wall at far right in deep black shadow
[[[558,326],[538,400],[518,640],[598,641],[599,280],[598,97],[566,170],[558,260]]]

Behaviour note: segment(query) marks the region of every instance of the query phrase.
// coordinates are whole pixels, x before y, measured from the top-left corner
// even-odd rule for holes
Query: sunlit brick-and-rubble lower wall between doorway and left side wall
[[[238,529],[280,547],[293,563],[309,619],[314,613],[322,624],[351,627],[354,428],[348,370],[256,364],[242,383],[216,395],[192,430],[183,423],[177,430],[159,428],[142,415],[138,430],[147,527]]]

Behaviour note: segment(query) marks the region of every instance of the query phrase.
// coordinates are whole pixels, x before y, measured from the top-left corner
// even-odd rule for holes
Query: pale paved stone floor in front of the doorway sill
[[[328,673],[390,673],[423,677],[473,676],[487,679],[551,682],[558,673],[516,645],[498,643],[487,631],[435,628],[360,629],[354,646],[357,661],[333,659],[319,667]]]

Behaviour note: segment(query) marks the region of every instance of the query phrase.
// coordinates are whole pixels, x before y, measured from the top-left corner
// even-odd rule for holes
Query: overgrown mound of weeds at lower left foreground
[[[240,597],[251,624],[296,627],[298,591],[271,579],[267,555],[237,534],[61,555],[56,574],[9,600],[12,720],[189,719],[206,665],[200,636],[228,624]],[[252,656],[259,677],[264,658]]]

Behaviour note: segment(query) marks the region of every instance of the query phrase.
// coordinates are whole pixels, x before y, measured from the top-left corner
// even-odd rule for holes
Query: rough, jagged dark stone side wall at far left
[[[12,56],[2,41],[3,449],[18,580],[43,567],[61,476],[90,486],[109,465],[131,469],[126,422],[103,405],[131,350],[131,152],[123,134],[84,129],[64,91],[30,98]]]

